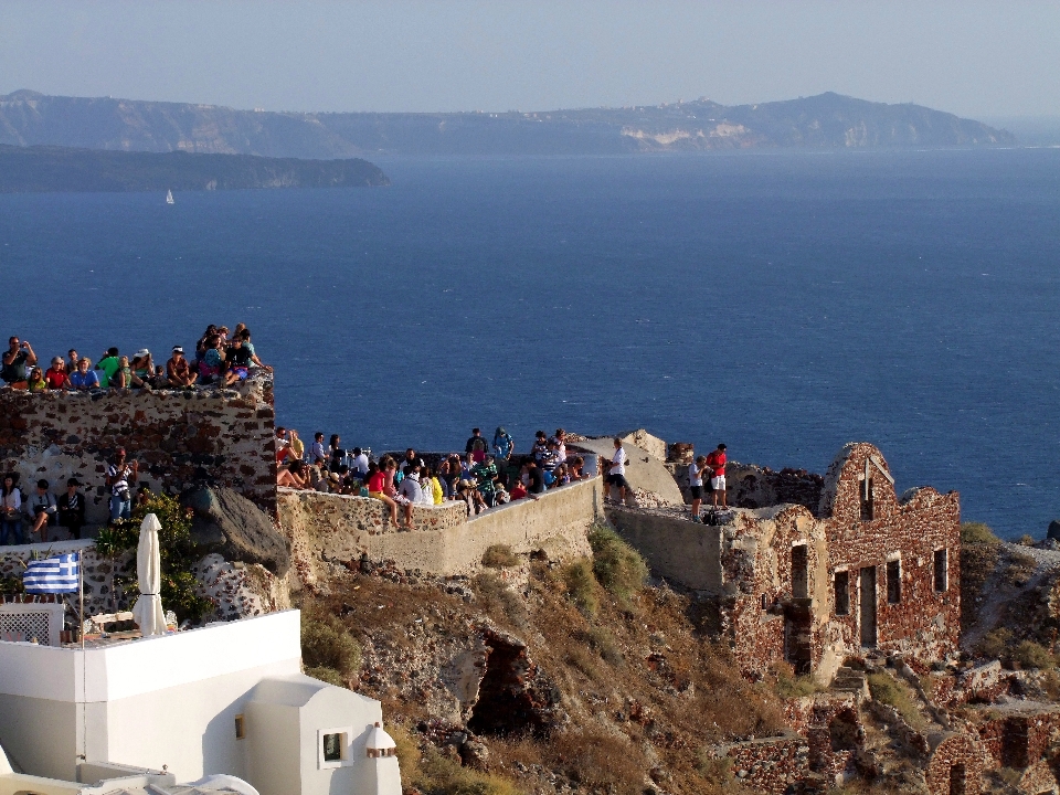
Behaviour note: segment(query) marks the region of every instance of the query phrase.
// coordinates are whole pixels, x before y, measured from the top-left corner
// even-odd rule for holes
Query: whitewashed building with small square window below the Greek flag
[[[298,611],[86,649],[0,642],[0,745],[33,776],[226,774],[262,795],[400,795],[381,721],[378,701],[301,674]]]

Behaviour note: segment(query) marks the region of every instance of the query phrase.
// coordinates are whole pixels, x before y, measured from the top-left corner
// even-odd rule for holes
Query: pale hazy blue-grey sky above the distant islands
[[[545,110],[825,91],[1060,116],[1060,2],[0,2],[0,94]]]

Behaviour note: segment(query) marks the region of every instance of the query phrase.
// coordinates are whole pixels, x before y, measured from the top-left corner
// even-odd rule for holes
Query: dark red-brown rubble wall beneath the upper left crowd
[[[44,478],[56,496],[77,477],[89,524],[106,522],[106,465],[124,446],[140,485],[177,494],[195,483],[235,489],[276,512],[272,384],[239,390],[110,390],[99,394],[0,390],[0,466],[24,494]]]

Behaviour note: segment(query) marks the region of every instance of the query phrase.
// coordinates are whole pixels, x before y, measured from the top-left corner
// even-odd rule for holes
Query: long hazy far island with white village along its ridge
[[[1016,138],[920,105],[833,93],[739,106],[703,98],[544,113],[303,114],[18,91],[0,96],[0,144],[330,159],[996,147]]]

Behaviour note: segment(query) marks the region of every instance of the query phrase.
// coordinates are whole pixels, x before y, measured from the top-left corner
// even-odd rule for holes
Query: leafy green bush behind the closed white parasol
[[[130,519],[119,519],[99,531],[96,551],[112,560],[135,551],[140,541],[140,523],[148,513],[158,517],[161,524],[158,548],[162,607],[173,611],[178,621],[199,621],[213,612],[214,604],[195,594],[198,583],[191,566],[202,559],[203,552],[191,537],[191,515],[176,497],[151,495],[142,505],[135,506]],[[130,595],[138,591],[135,565],[129,573],[116,573],[114,584]]]

